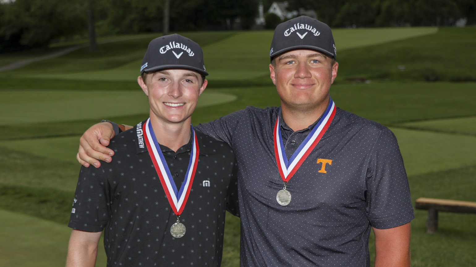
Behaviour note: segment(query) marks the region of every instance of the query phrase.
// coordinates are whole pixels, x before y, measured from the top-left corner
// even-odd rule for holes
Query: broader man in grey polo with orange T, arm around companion
[[[367,267],[371,229],[376,267],[410,264],[414,214],[397,140],[336,107],[329,95],[336,54],[326,24],[305,16],[279,24],[269,70],[281,106],[248,107],[196,127],[238,159],[243,267]],[[94,128],[107,139],[108,127]],[[97,152],[80,148],[80,162],[110,161],[92,133],[81,144]]]

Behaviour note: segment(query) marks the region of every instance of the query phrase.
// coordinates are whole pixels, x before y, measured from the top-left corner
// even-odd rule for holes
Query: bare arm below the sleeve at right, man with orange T
[[[410,223],[389,229],[373,228],[375,267],[410,266]]]

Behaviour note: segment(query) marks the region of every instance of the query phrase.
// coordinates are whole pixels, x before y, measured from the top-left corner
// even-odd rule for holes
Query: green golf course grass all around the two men
[[[476,98],[472,97],[476,84],[422,82],[435,75],[438,80],[472,80],[475,30],[333,31],[340,65],[331,95],[338,107],[394,131],[413,201],[418,197],[476,201]],[[279,105],[268,73],[272,31],[183,35],[203,46],[210,72],[193,124],[247,105]],[[80,134],[103,118],[133,125],[148,116],[136,77],[145,48],[155,36],[131,37],[100,44],[96,54],[79,49],[0,73],[0,266],[64,265]],[[0,59],[0,66],[40,54],[12,54]],[[405,65],[405,71],[399,65]],[[352,84],[353,78],[371,82]],[[412,266],[476,265],[474,215],[441,212],[438,231],[428,235],[427,212],[415,214]],[[236,267],[239,219],[227,214],[226,222],[222,266]],[[372,242],[371,238],[371,251]],[[99,259],[98,266],[104,262]]]

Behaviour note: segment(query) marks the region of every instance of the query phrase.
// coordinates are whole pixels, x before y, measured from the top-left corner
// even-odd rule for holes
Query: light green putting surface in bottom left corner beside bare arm
[[[5,210],[0,218],[0,266],[65,265],[71,233],[66,225]],[[102,244],[101,238],[96,266],[106,266]]]

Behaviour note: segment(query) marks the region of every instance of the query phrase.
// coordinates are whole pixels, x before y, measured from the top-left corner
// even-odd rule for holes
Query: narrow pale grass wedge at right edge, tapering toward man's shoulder
[[[404,123],[399,125],[428,130],[454,131],[463,134],[476,134],[476,117],[430,120]]]

